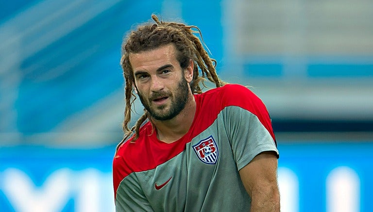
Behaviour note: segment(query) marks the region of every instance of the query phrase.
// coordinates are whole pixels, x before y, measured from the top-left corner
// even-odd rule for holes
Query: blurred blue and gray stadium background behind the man
[[[372,11],[371,0],[1,0],[0,211],[114,211],[120,45],[152,13],[198,26],[221,78],[266,103],[283,212],[373,211]]]

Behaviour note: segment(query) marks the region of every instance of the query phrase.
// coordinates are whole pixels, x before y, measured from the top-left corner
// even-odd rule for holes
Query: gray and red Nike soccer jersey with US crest
[[[259,153],[278,154],[271,119],[249,89],[227,84],[194,95],[189,131],[171,144],[151,123],[119,146],[113,160],[117,212],[249,211],[238,171]]]

